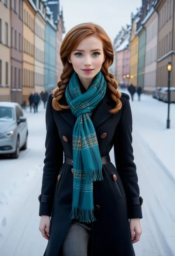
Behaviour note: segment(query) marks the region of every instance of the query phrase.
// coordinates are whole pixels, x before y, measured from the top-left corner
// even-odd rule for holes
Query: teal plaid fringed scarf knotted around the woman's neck
[[[85,93],[81,93],[78,75],[74,72],[65,90],[73,115],[73,200],[71,218],[80,222],[95,221],[93,215],[93,181],[103,180],[95,128],[90,119],[93,109],[106,93],[106,81],[100,71]]]

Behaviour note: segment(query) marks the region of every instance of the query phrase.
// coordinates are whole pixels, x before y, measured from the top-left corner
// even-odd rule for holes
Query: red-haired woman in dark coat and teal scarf
[[[83,23],[68,32],[60,55],[61,80],[46,110],[39,196],[44,255],[135,255],[142,198],[129,96],[118,91],[108,70],[111,41],[98,25]],[[113,146],[116,167],[109,157]]]

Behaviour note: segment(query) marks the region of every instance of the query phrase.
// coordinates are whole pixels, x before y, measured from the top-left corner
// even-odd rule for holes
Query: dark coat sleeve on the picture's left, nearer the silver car
[[[56,180],[63,164],[63,147],[58,128],[53,117],[52,94],[48,97],[46,108],[45,159],[42,175],[39,215],[51,216]]]

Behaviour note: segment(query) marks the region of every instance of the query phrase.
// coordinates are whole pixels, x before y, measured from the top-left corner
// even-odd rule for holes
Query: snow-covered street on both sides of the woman
[[[124,91],[128,93],[127,91]],[[143,233],[134,244],[136,256],[175,256],[175,104],[135,94],[133,148],[142,206]],[[38,227],[38,195],[45,156],[45,110],[24,110],[28,121],[28,149],[16,160],[0,157],[0,256],[43,256],[47,246]],[[110,152],[114,164],[113,150]]]

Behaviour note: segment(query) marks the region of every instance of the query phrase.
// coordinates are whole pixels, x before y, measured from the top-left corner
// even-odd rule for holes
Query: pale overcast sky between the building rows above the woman
[[[131,24],[131,11],[141,0],[60,0],[66,33],[75,25],[93,22],[103,27],[113,42],[121,26]]]

